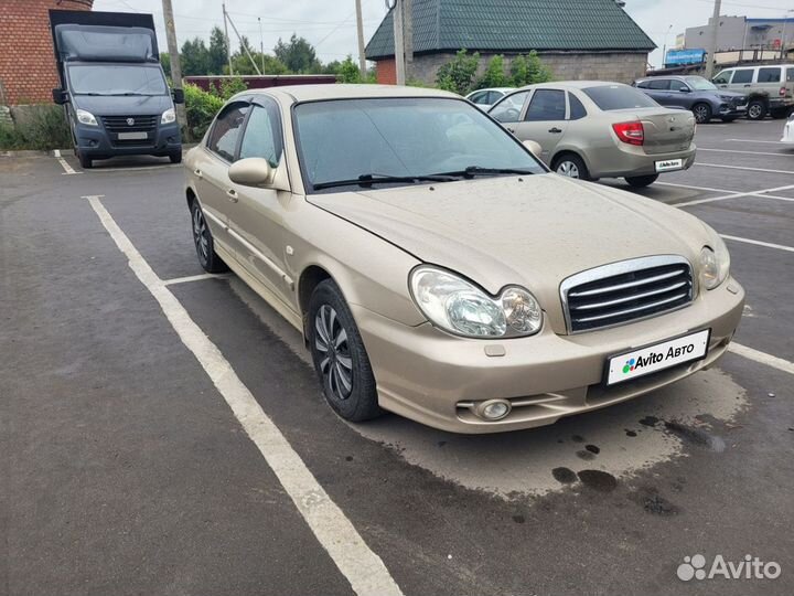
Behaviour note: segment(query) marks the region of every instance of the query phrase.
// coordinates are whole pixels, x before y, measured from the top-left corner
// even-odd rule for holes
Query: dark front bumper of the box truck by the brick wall
[[[182,150],[182,137],[176,123],[158,125],[149,134],[149,138],[141,141],[124,143],[115,140],[116,135],[99,126],[77,124],[74,128],[77,139],[77,151],[93,159],[110,158],[114,156],[168,156]]]

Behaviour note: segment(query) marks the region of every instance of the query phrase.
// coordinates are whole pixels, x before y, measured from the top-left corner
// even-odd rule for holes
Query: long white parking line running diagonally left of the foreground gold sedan
[[[157,276],[99,198],[87,199],[119,251],[129,259],[132,272],[160,304],[174,331],[226,400],[320,544],[351,583],[353,590],[367,596],[401,595],[399,586],[380,557],[369,550],[351,521],[323,490],[281,430],[239,380],[232,364]]]

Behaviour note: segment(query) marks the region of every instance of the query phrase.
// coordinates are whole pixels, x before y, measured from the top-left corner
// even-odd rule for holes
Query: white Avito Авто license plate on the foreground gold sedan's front
[[[706,358],[710,329],[612,356],[607,361],[607,384],[631,381],[676,364]]]

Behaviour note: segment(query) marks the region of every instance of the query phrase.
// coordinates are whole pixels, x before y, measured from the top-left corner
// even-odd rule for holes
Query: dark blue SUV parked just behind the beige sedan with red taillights
[[[708,123],[711,118],[732,123],[747,114],[744,94],[720,91],[702,76],[654,76],[640,78],[634,86],[661,106],[690,110],[697,124]]]

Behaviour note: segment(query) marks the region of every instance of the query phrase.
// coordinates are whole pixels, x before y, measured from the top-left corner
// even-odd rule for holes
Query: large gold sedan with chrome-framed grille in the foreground
[[[741,318],[708,225],[549,173],[446,92],[250,89],[185,167],[201,265],[303,333],[348,421],[551,424],[712,364]]]

